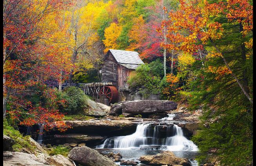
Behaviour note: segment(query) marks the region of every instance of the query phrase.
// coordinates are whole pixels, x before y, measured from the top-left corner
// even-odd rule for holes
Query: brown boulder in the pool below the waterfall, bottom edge
[[[151,165],[182,165],[182,166],[191,166],[189,159],[183,159],[176,157],[171,151],[163,151],[160,154],[156,155],[143,155],[140,157],[140,161],[143,164]]]

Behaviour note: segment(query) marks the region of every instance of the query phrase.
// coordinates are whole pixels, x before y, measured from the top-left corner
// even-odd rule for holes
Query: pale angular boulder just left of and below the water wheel
[[[85,110],[85,114],[89,116],[106,116],[110,110],[110,107],[102,104],[96,103],[93,100],[87,100],[87,110]]]

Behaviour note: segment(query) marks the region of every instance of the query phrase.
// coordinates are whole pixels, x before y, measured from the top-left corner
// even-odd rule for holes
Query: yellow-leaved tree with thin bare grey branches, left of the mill
[[[101,11],[108,5],[110,4],[105,4],[102,1],[95,3],[77,1],[74,7],[65,13],[69,31],[67,45],[68,49],[72,51],[71,61],[73,64],[69,75],[69,85],[71,85],[76,72],[78,57],[86,59],[87,57],[100,57],[102,54],[100,38],[97,34],[99,28],[97,19],[100,17]],[[84,61],[83,63],[88,62]]]

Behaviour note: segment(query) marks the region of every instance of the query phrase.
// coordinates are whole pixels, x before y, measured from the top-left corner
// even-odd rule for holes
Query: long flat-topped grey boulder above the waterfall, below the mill
[[[157,112],[171,111],[177,108],[177,103],[169,100],[134,100],[120,102],[111,107],[109,115],[122,113],[154,114]]]

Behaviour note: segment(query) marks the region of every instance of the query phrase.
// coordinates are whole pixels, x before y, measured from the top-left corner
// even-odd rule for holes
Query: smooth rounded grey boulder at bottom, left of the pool
[[[86,166],[117,166],[111,159],[87,146],[73,148],[68,157],[78,164]]]

